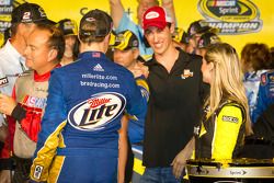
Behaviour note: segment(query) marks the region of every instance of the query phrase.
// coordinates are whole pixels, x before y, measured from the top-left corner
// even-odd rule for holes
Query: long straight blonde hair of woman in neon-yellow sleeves
[[[210,95],[206,105],[209,105],[210,112],[214,113],[224,98],[238,102],[246,111],[246,116],[243,116],[246,133],[252,134],[248,100],[242,83],[243,73],[235,48],[226,43],[213,44],[207,48],[205,60],[214,64]]]

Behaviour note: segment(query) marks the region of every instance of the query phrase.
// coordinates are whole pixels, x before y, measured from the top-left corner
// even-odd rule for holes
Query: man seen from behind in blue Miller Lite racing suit
[[[117,182],[123,112],[138,119],[146,101],[132,72],[104,55],[111,30],[109,14],[88,12],[79,60],[52,72],[32,182]]]

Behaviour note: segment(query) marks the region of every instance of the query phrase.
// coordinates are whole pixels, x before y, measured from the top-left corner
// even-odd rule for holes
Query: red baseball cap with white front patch
[[[150,26],[156,26],[160,30],[163,30],[167,24],[171,22],[171,18],[163,8],[151,7],[144,13],[142,28],[147,30]]]

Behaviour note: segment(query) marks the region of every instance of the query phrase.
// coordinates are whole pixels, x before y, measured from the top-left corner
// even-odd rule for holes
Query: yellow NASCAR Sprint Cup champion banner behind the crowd
[[[265,43],[274,46],[274,7],[271,0],[173,0],[176,24],[187,31],[196,20],[205,19],[220,28],[220,38],[233,45],[238,52],[247,43]],[[0,32],[10,26],[12,9],[25,0],[0,0]],[[77,22],[92,9],[110,12],[109,0],[27,0],[42,5],[48,18],[65,18]],[[125,10],[136,21],[137,0],[122,0]],[[3,35],[0,34],[0,38]],[[0,43],[1,44],[1,43]]]

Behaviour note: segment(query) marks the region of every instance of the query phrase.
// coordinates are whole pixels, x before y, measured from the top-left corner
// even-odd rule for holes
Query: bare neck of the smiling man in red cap
[[[173,45],[170,45],[163,54],[155,54],[156,60],[160,62],[168,70],[168,72],[171,71],[178,57],[179,50]]]

